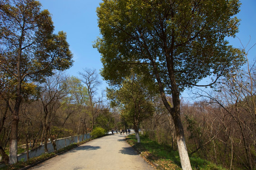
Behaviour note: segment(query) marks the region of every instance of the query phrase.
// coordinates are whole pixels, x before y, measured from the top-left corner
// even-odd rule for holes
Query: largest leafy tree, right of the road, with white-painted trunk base
[[[215,83],[242,57],[226,36],[238,32],[238,0],[103,0],[97,8],[101,75],[115,85],[131,72],[152,75],[172,115],[183,170],[191,170],[180,118],[180,92]],[[172,95],[172,105],[166,95]]]

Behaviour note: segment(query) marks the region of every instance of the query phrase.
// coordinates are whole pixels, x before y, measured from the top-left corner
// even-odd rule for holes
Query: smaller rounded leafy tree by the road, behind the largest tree
[[[155,91],[150,90],[147,79],[134,74],[129,76],[116,89],[108,89],[108,98],[121,107],[121,116],[135,129],[137,142],[140,143],[139,124],[153,115]]]

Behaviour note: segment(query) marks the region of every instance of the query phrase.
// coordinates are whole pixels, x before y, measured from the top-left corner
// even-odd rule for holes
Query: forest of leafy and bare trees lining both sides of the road
[[[73,54],[35,0],[0,2],[0,155],[105,129],[134,128],[229,170],[256,169],[256,67],[236,49],[238,0],[103,0],[103,68],[65,70]],[[101,78],[109,87],[99,91]],[[210,83],[201,85],[208,79]],[[186,92],[190,97],[183,97]],[[79,139],[83,140],[83,139]]]

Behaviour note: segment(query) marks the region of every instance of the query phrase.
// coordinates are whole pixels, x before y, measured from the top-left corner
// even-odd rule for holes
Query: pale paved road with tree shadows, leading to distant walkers
[[[30,170],[154,170],[126,143],[125,136],[91,140]]]

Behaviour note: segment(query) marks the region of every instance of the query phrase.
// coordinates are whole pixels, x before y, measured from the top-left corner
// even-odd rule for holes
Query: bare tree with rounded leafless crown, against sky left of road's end
[[[102,99],[99,98],[98,100],[95,99],[95,94],[97,93],[98,86],[101,85],[99,80],[99,75],[95,69],[91,70],[89,68],[83,69],[84,72],[79,72],[82,76],[82,83],[84,83],[88,90],[89,96],[89,107],[90,107],[90,116],[91,116],[91,130],[93,130],[94,122],[96,114],[98,113],[99,109],[94,109],[94,107],[99,106],[98,103],[102,102]]]

